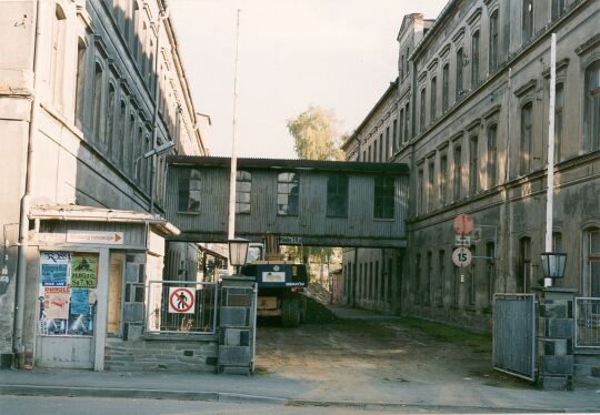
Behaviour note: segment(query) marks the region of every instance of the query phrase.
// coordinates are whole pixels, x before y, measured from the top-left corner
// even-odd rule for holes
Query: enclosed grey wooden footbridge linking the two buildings
[[[230,159],[171,156],[167,219],[179,241],[226,242]],[[406,246],[409,169],[399,163],[238,159],[236,236],[282,245]]]

